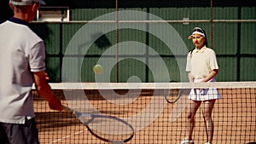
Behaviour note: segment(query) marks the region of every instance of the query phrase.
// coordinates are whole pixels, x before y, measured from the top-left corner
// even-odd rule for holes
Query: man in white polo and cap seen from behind
[[[37,144],[38,130],[33,112],[32,83],[49,107],[61,111],[45,70],[44,41],[27,26],[42,0],[10,0],[14,17],[0,25],[0,141]]]

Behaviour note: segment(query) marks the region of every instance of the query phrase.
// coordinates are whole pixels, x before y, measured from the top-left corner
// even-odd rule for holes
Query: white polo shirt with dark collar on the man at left
[[[32,72],[45,69],[43,40],[11,18],[0,25],[0,122],[25,124],[33,118]]]

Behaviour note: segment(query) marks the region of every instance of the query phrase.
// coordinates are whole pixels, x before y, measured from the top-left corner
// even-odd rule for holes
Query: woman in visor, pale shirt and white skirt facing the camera
[[[192,35],[195,49],[192,49],[187,57],[186,71],[188,72],[190,83],[215,82],[214,77],[218,74],[218,63],[215,52],[207,48],[206,32],[200,27],[195,27]],[[212,109],[217,99],[221,95],[218,89],[192,89],[189,94],[189,107],[187,107],[186,137],[180,144],[194,144],[192,134],[195,127],[195,113],[204,104],[203,116],[207,128],[207,143],[212,143],[213,122]]]

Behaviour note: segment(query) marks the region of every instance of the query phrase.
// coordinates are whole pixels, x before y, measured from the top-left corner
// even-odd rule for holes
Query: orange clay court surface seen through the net
[[[219,91],[223,99],[218,100],[213,109],[212,118],[215,126],[213,143],[244,144],[256,141],[255,89],[219,89]],[[64,105],[71,102],[73,107],[76,106],[75,104],[78,104],[78,107],[86,107],[81,100],[66,101],[62,90],[54,90],[54,92]],[[115,92],[119,95],[128,93],[127,90],[122,89],[115,90]],[[129,91],[130,96],[137,95],[137,93],[137,90]],[[161,107],[160,105],[163,105],[163,112],[160,112],[160,116],[155,118],[154,122],[141,130],[137,130],[135,137],[127,143],[179,143],[185,136],[186,112],[184,111],[181,117],[171,123],[169,117],[174,105],[163,101],[162,90],[146,89],[139,93],[140,95],[132,98],[132,101],[128,99],[130,101],[125,104],[117,104],[117,101],[120,100],[106,101],[97,90],[84,91],[91,106],[96,108],[97,111],[119,118],[131,117],[143,112],[153,99],[158,101],[158,103],[153,104],[153,108],[157,109]],[[108,94],[108,90],[104,94]],[[34,95],[34,107],[41,143],[106,143],[90,135],[84,124],[80,123],[73,115],[67,112],[49,110],[47,102],[38,98],[36,92],[34,92]],[[122,101],[124,100],[125,98],[122,99]],[[201,112],[202,110],[199,109],[195,116],[193,136],[195,143],[206,142],[206,132]],[[137,127],[136,124],[141,124],[141,122],[132,122],[131,124]]]

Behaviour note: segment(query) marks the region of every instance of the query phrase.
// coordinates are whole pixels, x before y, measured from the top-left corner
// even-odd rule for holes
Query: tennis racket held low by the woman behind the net
[[[165,89],[165,99],[168,103],[175,103],[180,99],[182,95],[189,95],[190,90],[191,89]]]

